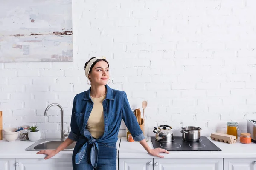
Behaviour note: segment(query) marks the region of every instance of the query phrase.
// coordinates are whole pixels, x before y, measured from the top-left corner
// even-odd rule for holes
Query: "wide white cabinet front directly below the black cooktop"
[[[154,170],[223,170],[222,158],[154,158]]]

